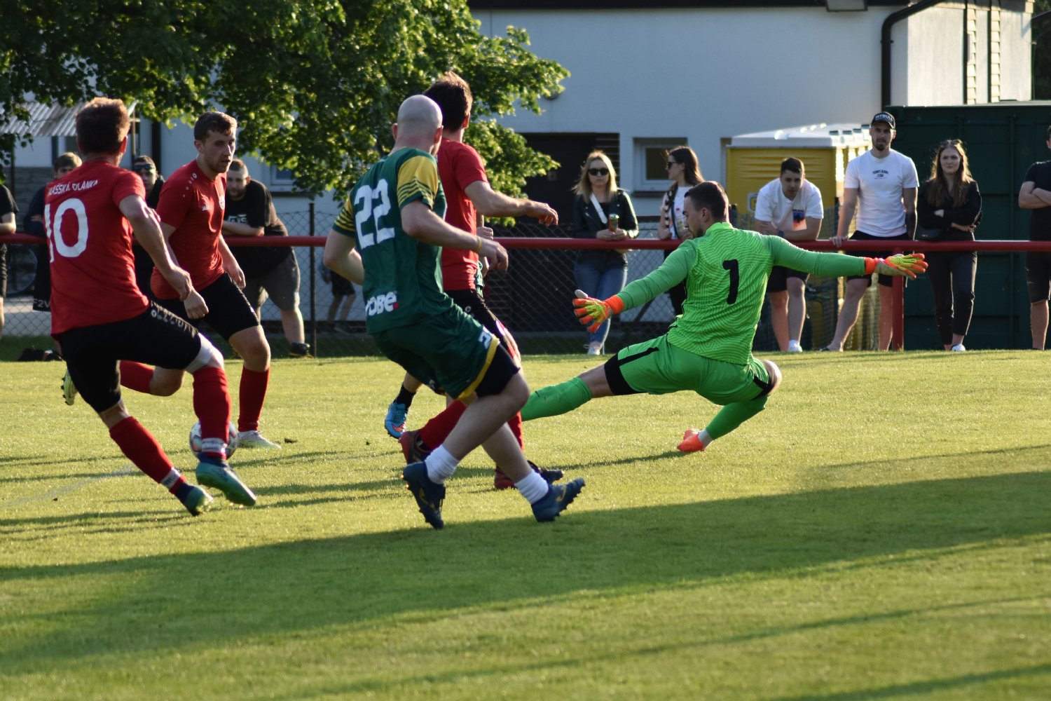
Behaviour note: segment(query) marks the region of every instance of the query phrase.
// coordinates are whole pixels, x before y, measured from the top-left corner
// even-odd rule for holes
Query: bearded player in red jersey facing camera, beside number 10
[[[238,446],[281,448],[260,433],[260,415],[270,382],[270,346],[263,327],[241,288],[245,275],[221,235],[226,209],[226,170],[233,160],[238,122],[208,111],[193,125],[198,157],[182,166],[161,190],[157,214],[171,248],[171,256],[190,274],[208,305],[203,316],[190,314],[177,290],[160,270],[151,288],[158,304],[194,326],[206,322],[244,358],[239,394]],[[179,390],[183,374],[164,368],[126,363],[121,367],[125,387],[166,396]]]

